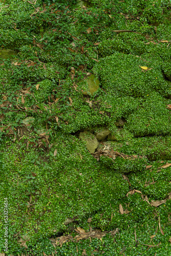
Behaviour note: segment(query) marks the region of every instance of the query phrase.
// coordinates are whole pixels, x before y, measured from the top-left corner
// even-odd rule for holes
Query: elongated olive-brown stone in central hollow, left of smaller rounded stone
[[[90,153],[94,153],[96,148],[98,147],[98,140],[96,136],[88,131],[81,132],[79,134],[79,138],[86,142],[87,149]]]

